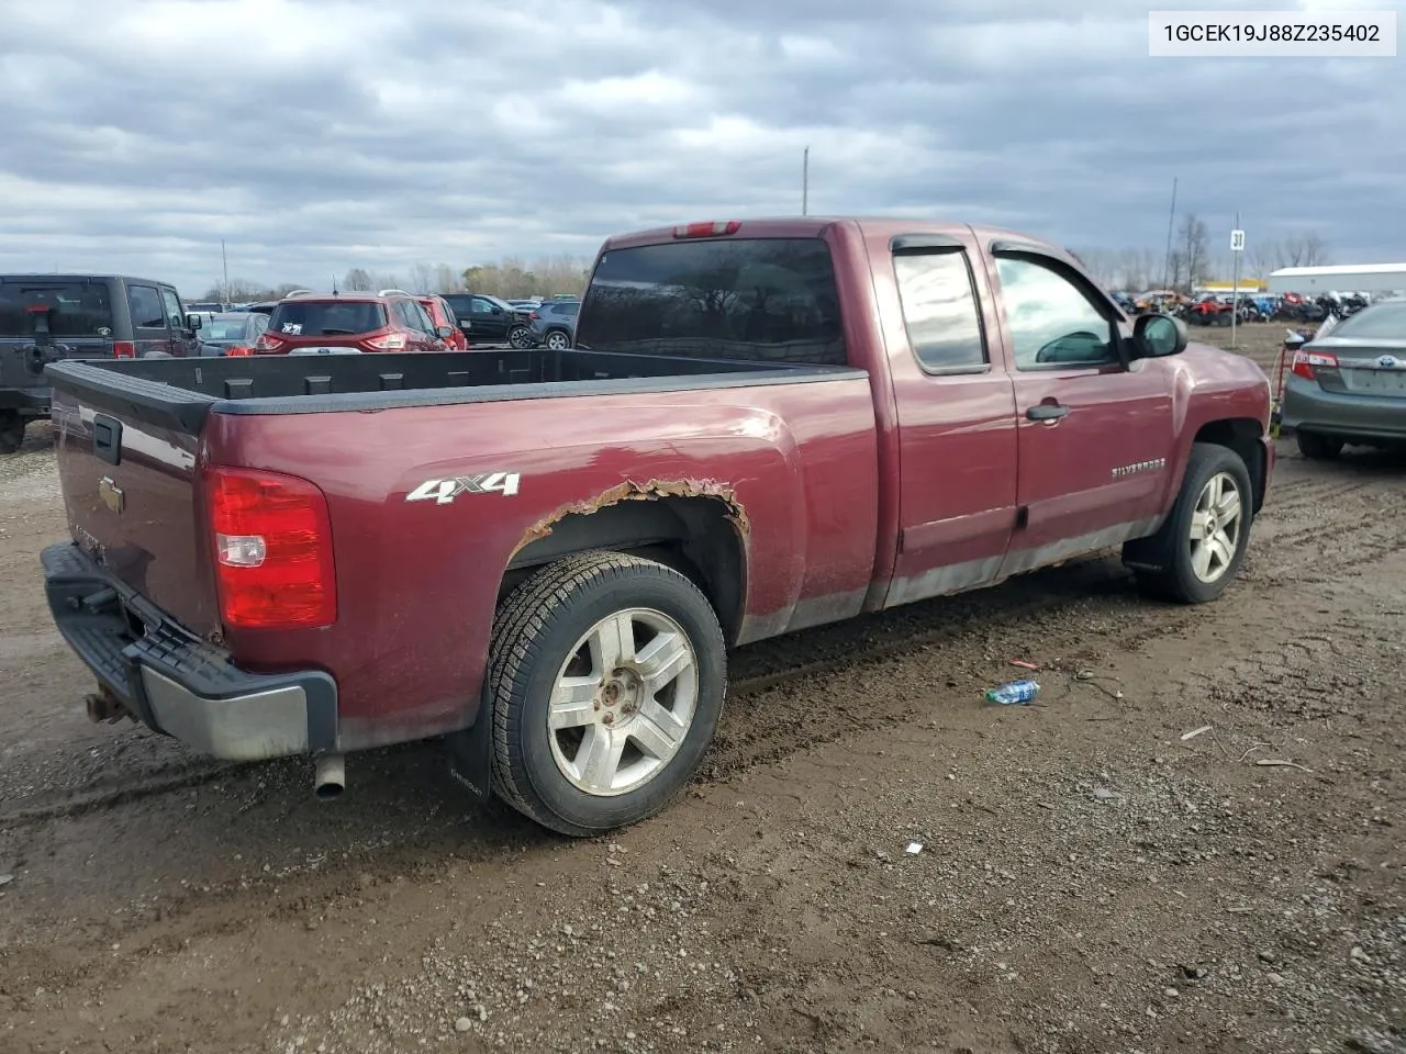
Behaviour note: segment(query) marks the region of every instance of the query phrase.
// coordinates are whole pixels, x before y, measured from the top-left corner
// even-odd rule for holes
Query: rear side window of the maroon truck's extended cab
[[[966,253],[894,256],[908,344],[924,370],[983,365],[986,343]]]

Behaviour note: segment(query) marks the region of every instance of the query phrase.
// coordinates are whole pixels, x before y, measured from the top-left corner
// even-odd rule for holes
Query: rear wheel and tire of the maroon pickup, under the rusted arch
[[[626,618],[634,641],[641,628],[658,635],[623,648],[621,676],[609,677],[600,652]],[[675,659],[651,691],[637,656],[669,639]],[[503,604],[488,677],[494,790],[544,828],[591,838],[654,815],[693,776],[723,711],[727,646],[707,597],[679,572],[583,552],[537,572]],[[576,694],[555,707],[565,724],[553,729],[551,697],[567,679]],[[617,748],[614,759],[592,766],[595,743]]]

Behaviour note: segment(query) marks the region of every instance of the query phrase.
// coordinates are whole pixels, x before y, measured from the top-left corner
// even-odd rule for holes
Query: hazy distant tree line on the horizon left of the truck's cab
[[[405,289],[406,292],[484,292],[505,299],[526,299],[529,297],[554,297],[557,294],[581,295],[591,274],[591,260],[576,256],[547,256],[538,260],[523,260],[509,256],[492,264],[474,264],[456,270],[450,264],[412,264],[404,274],[371,271],[353,267],[340,281],[343,292],[374,292],[377,289]],[[231,278],[228,289],[215,284],[205,291],[202,299],[243,304],[247,301],[278,299],[294,289],[318,288],[322,282],[283,282],[267,285],[247,278]]]

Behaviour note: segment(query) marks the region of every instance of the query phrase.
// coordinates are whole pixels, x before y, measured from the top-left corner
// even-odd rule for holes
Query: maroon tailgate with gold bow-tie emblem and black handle
[[[205,637],[219,616],[197,493],[198,429],[132,410],[132,402],[55,378],[69,531],[112,575]]]

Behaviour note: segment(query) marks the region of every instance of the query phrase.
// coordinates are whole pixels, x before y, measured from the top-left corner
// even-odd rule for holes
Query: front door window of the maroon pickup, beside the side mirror
[[[1112,320],[1069,278],[1021,257],[995,264],[1018,370],[1118,361]]]

